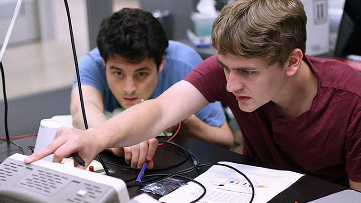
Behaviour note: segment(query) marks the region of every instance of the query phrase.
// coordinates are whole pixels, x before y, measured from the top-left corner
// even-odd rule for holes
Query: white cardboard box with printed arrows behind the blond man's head
[[[301,0],[307,15],[306,54],[311,56],[329,52],[329,19],[327,0]]]

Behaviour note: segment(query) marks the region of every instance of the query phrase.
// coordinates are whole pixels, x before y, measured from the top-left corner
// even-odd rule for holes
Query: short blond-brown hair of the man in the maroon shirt
[[[237,0],[214,21],[212,44],[222,55],[283,65],[293,49],[305,53],[306,21],[299,0]]]

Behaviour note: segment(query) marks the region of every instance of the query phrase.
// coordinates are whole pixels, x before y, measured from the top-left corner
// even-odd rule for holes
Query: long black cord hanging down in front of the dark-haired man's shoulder
[[[80,97],[80,103],[81,103],[81,108],[82,108],[84,126],[85,126],[85,129],[87,130],[89,127],[88,127],[88,122],[87,122],[86,115],[85,115],[85,107],[84,107],[83,92],[82,92],[82,87],[81,87],[82,85],[81,85],[81,81],[80,81],[80,73],[79,73],[78,59],[77,59],[77,53],[76,53],[76,51],[75,51],[75,42],[74,42],[74,36],[73,36],[73,27],[71,26],[70,11],[69,11],[69,6],[68,6],[68,1],[67,1],[67,0],[64,0],[64,5],[65,5],[65,9],[66,9],[66,16],[68,17],[70,40],[71,40],[71,48],[72,48],[72,50],[73,50],[73,58],[74,58],[74,63],[75,63],[75,72],[77,73],[79,97]],[[100,157],[99,154],[97,154],[97,157],[98,157],[101,165],[103,166],[106,175],[107,175],[107,176],[110,176],[109,170],[108,170],[108,168],[106,168],[106,165],[105,165],[103,159]]]

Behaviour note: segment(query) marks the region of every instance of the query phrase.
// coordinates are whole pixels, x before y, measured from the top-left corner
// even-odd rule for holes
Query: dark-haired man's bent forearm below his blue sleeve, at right
[[[194,114],[182,121],[179,133],[226,149],[230,149],[234,142],[232,131],[227,122],[219,127],[211,126]]]

